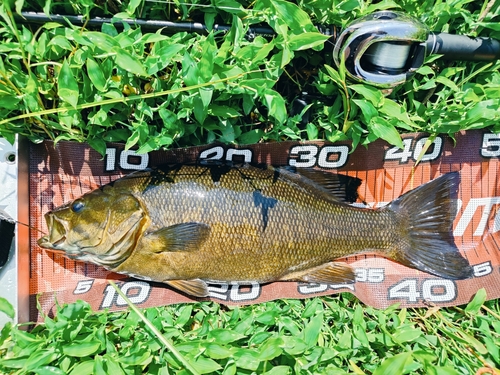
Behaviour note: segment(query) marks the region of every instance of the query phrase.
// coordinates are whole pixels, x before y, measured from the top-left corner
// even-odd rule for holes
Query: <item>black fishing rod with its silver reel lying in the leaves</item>
[[[141,27],[144,30],[161,30],[167,34],[185,31],[208,34],[210,31],[227,33],[228,25],[214,25],[212,30],[197,22],[172,22],[144,19],[84,18],[82,16],[46,15],[21,12],[17,20],[23,23],[57,22],[91,28],[103,24],[123,27]],[[442,55],[448,60],[495,61],[500,58],[500,41],[464,35],[431,32],[420,20],[396,11],[379,11],[347,25],[343,31],[336,26],[317,26],[318,31],[331,35],[333,59],[337,66],[343,64],[347,76],[357,82],[379,88],[399,86],[415,74],[430,55]],[[276,35],[270,27],[250,27],[247,38],[257,35]]]

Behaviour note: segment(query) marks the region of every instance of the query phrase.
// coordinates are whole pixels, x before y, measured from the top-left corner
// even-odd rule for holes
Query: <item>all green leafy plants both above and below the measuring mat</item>
[[[380,9],[403,10],[435,31],[500,39],[495,1],[4,0],[0,136],[88,142],[101,152],[105,142],[121,141],[147,152],[284,139],[400,145],[408,131],[500,131],[498,62],[430,57],[413,80],[384,93],[345,80],[314,25],[342,27]],[[92,29],[27,23],[20,11],[231,28],[208,35]],[[247,38],[258,25],[277,35]],[[305,103],[298,110],[297,98]],[[187,374],[191,366],[216,374],[499,374],[500,305],[484,300],[480,291],[463,308],[375,310],[343,294],[241,308],[176,305],[147,309],[145,317],[93,313],[78,302],[28,332],[3,327],[0,372]],[[3,299],[0,313],[14,316]]]

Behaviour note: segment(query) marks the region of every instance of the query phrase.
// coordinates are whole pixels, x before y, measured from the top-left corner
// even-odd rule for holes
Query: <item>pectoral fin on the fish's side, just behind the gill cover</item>
[[[148,250],[153,253],[163,251],[198,250],[210,233],[210,226],[204,223],[181,223],[148,233]]]

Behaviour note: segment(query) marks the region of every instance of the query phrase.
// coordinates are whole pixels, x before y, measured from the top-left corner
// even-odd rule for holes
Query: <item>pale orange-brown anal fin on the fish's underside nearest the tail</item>
[[[321,266],[294,273],[282,280],[296,280],[317,284],[352,284],[355,282],[354,269],[346,263],[329,262]]]

